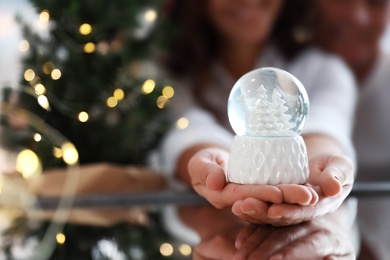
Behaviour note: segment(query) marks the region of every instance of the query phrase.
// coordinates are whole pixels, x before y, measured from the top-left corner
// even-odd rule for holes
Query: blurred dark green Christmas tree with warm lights
[[[31,2],[48,35],[18,17],[19,47],[27,50],[21,81],[49,102],[47,123],[76,145],[81,163],[144,163],[167,127],[164,108],[174,94],[145,62],[161,47],[162,1]]]

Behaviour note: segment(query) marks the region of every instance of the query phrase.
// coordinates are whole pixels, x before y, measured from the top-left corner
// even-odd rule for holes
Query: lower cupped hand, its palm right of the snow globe
[[[277,186],[283,192],[283,203],[269,205],[247,198],[234,203],[232,210],[241,219],[252,223],[275,226],[297,224],[336,210],[352,189],[353,174],[354,167],[348,158],[317,156],[310,160],[310,178],[306,185]],[[302,188],[313,194],[312,203],[299,205],[289,202]],[[319,197],[317,203],[316,197]]]

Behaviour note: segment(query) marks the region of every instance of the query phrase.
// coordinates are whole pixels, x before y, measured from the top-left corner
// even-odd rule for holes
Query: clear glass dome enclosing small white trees
[[[287,71],[260,68],[242,76],[228,101],[230,124],[237,135],[297,136],[309,113],[302,83]]]

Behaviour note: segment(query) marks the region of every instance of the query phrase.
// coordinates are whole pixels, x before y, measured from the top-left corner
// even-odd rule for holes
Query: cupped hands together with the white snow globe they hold
[[[333,212],[352,189],[354,165],[331,137],[300,136],[308,112],[305,88],[293,75],[276,68],[247,73],[229,97],[237,134],[231,149],[199,144],[186,151],[187,180],[216,208],[231,207],[256,224],[292,225]]]

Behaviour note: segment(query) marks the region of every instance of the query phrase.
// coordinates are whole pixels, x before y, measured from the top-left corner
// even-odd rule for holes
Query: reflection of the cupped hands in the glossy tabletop
[[[344,233],[325,217],[278,228],[249,224],[237,236],[233,259],[355,259]]]

